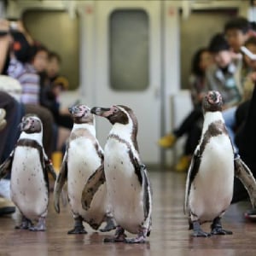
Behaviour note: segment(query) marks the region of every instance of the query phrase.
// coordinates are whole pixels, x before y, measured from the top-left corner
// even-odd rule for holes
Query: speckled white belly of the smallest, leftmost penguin
[[[26,218],[38,218],[47,212],[49,192],[44,179],[42,154],[38,148],[15,148],[11,197]]]

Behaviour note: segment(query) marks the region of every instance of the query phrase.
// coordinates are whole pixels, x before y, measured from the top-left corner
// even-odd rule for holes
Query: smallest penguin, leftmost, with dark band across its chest
[[[21,119],[20,137],[9,158],[0,166],[0,178],[11,172],[10,194],[20,210],[22,230],[46,230],[49,203],[48,172],[55,178],[53,166],[44,153],[43,125],[35,114]],[[37,220],[37,224],[33,221]]]

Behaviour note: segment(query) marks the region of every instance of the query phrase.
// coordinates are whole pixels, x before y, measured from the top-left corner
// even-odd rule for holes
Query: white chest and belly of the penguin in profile
[[[144,220],[143,188],[136,174],[135,157],[137,151],[130,143],[113,134],[108,137],[104,170],[109,200],[117,223],[131,233],[136,233]]]

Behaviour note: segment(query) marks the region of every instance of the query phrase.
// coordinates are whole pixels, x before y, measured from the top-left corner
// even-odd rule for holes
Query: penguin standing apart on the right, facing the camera
[[[247,188],[256,206],[256,183],[252,172],[236,154],[222,115],[223,100],[218,91],[208,91],[202,102],[204,122],[201,139],[189,166],[184,213],[189,214],[192,236],[231,235],[224,230],[221,218],[230,206],[234,176]],[[212,222],[211,233],[201,224]]]

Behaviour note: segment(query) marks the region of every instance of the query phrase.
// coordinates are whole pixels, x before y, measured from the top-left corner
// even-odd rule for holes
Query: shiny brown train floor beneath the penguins
[[[159,170],[149,172],[154,189],[153,230],[145,244],[103,243],[113,232],[102,234],[88,228],[87,235],[67,235],[73,227],[69,208],[54,211],[50,195],[47,231],[15,230],[14,220],[0,218],[0,255],[256,255],[256,223],[245,221],[247,202],[231,206],[223,226],[232,236],[193,238],[183,215],[185,174]],[[203,229],[209,230],[210,224]],[[131,236],[131,234],[129,234]]]

